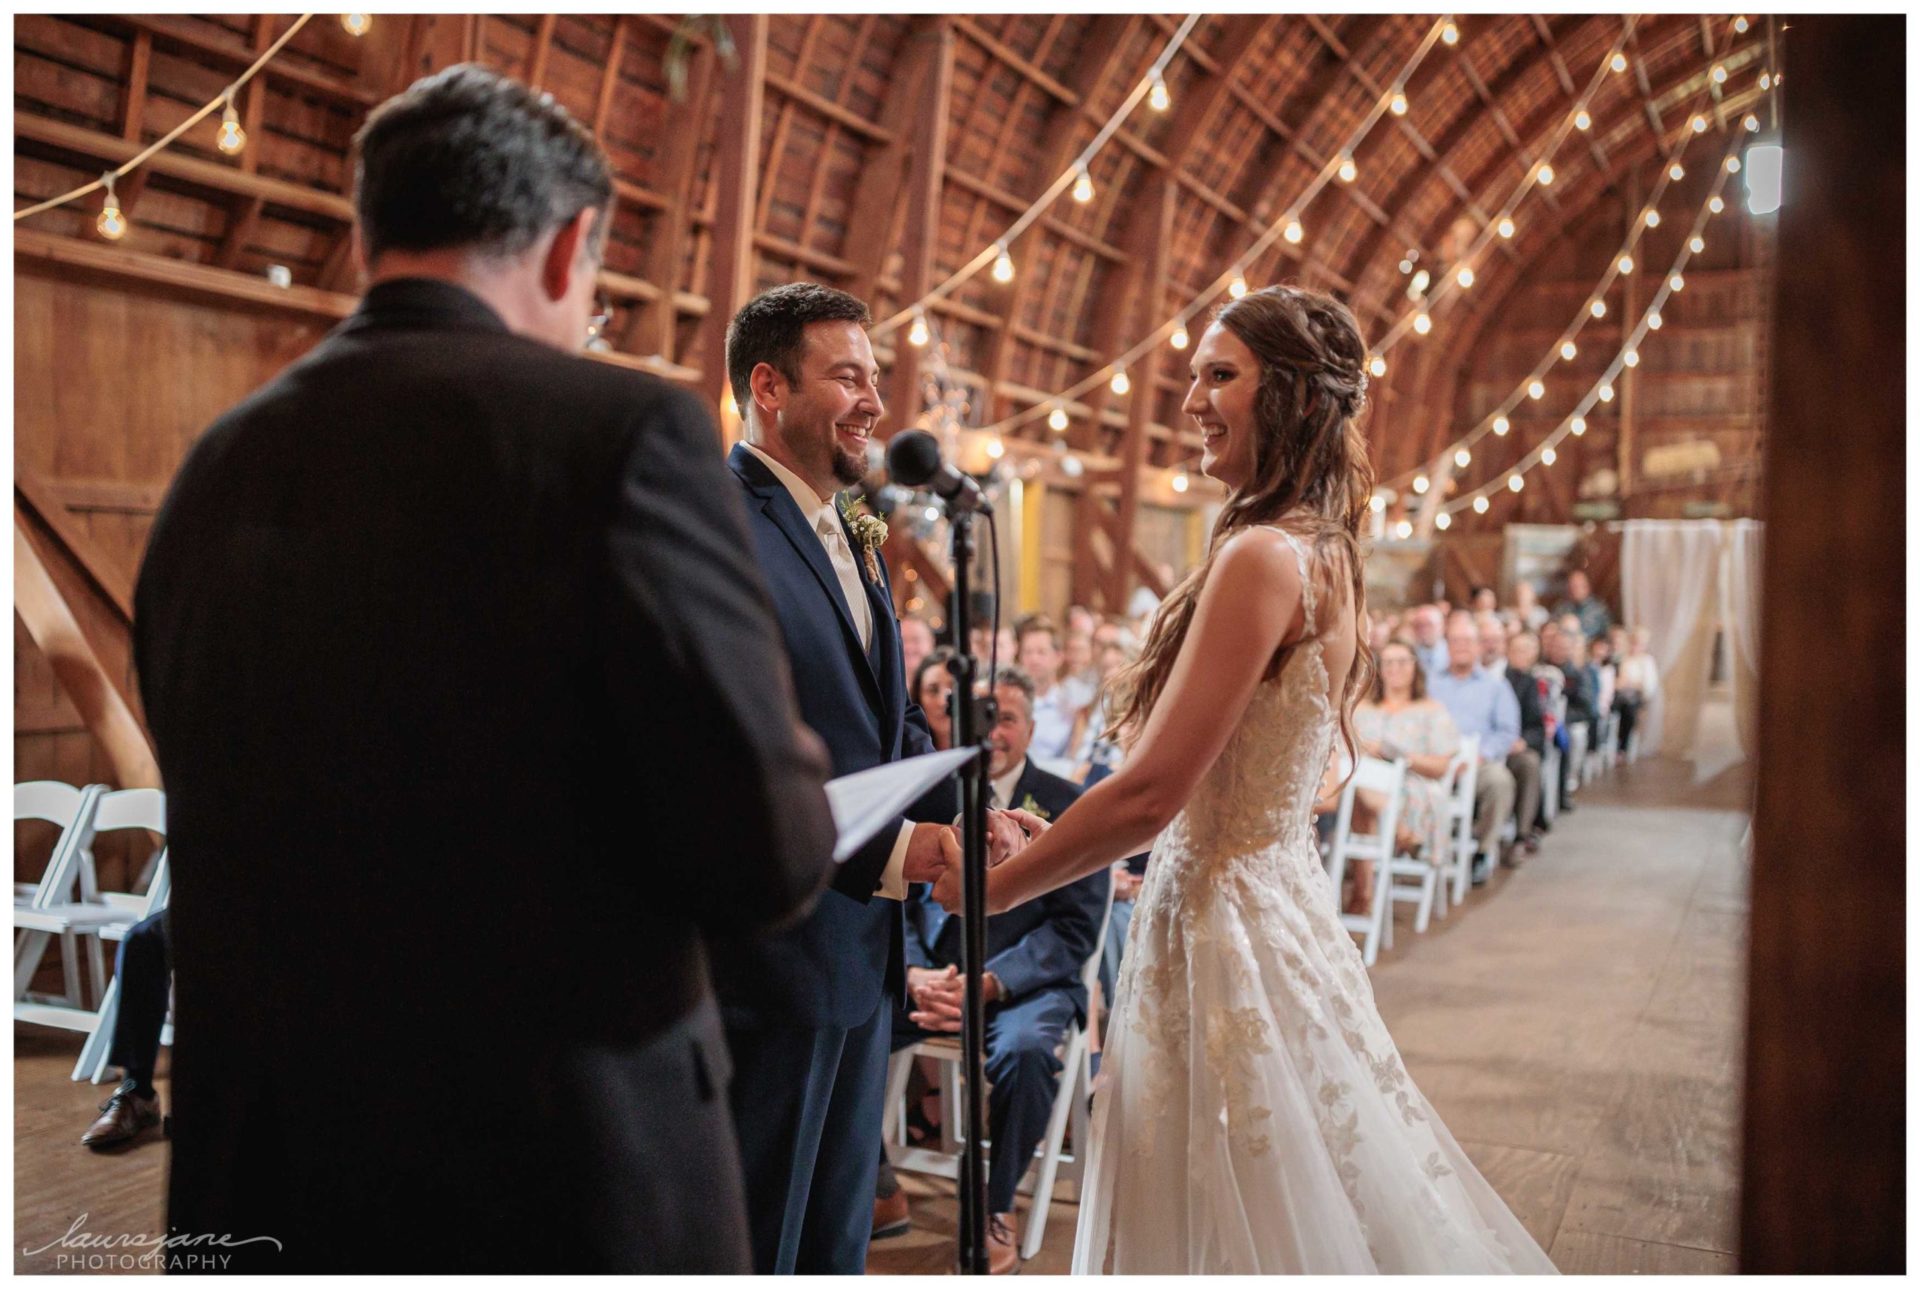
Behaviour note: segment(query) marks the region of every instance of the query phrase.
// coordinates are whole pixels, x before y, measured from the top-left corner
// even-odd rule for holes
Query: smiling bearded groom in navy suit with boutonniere
[[[885,407],[868,309],[797,282],[728,327],[747,442],[728,465],[774,594],[801,718],[851,774],[933,751],[908,695],[887,565],[835,496],[866,474]],[[781,936],[716,947],[733,1116],[758,1274],[858,1274],[872,1228],[893,1001],[904,995],[900,901],[943,868],[952,782],[839,866],[814,912]],[[918,820],[918,822],[914,822]]]

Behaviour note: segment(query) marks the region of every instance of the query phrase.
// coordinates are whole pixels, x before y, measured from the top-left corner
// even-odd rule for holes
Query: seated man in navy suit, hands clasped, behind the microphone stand
[[[1035,686],[1020,669],[1004,667],[995,680],[998,722],[989,736],[989,774],[995,805],[1058,818],[1081,790],[1033,765]],[[1071,1024],[1087,1022],[1081,970],[1096,947],[1106,909],[1108,874],[1094,872],[1033,903],[987,920],[987,1256],[993,1274],[1020,1268],[1014,1191],[1046,1135],[1060,1080],[1058,1051]],[[937,1034],[960,1032],[966,978],[960,974],[962,918],[948,916],[925,888],[906,905],[906,989],[912,1010],[897,1012],[893,1049]],[[879,1191],[889,1191],[881,1178]],[[897,1201],[904,1210],[904,1193]],[[1043,1208],[1044,1212],[1044,1208]],[[874,1226],[883,1214],[876,1206]],[[904,1212],[899,1214],[904,1218]],[[1039,1220],[1044,1222],[1044,1216]]]

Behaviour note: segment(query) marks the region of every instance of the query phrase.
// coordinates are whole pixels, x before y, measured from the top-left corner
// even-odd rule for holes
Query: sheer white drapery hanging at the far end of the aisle
[[[1741,538],[1741,569],[1747,569],[1747,549],[1759,551],[1759,528]],[[1713,636],[1732,599],[1720,596],[1722,549],[1726,530],[1715,519],[1634,519],[1620,524],[1620,609],[1628,626],[1651,632],[1649,653],[1661,672],[1661,690],[1640,717],[1642,751],[1667,751],[1686,757],[1693,751],[1699,732],[1699,707],[1707,695],[1713,669]],[[1741,578],[1738,596],[1740,624],[1730,619],[1728,634],[1736,630],[1759,636],[1757,622],[1745,619],[1757,609],[1759,569]],[[1741,738],[1745,745],[1745,736]]]

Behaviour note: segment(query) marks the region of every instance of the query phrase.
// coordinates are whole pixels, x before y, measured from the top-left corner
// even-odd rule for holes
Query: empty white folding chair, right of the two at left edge
[[[102,832],[119,832],[127,828],[144,828],[146,832],[161,838],[161,849],[156,851],[154,859],[140,874],[142,880],[134,884],[136,888],[146,886],[146,889],[102,893],[94,872],[92,841]],[[121,791],[98,793],[92,820],[84,830],[84,836],[75,838],[75,849],[67,861],[71,872],[61,880],[61,888],[58,891],[60,897],[27,909],[13,909],[13,1020],[52,1026],[56,1030],[75,1030],[79,1034],[92,1034],[100,1028],[100,1010],[86,1007],[81,999],[67,997],[63,1003],[54,1005],[27,997],[25,982],[31,982],[33,972],[27,968],[25,978],[21,974],[23,964],[17,951],[17,941],[21,939],[19,932],[25,932],[25,937],[61,936],[65,939],[83,936],[86,939],[88,966],[92,968],[94,997],[104,1005],[108,978],[102,934],[109,928],[119,928],[119,932],[125,934],[125,928],[144,916],[142,911],[154,903],[152,897],[156,886],[159,888],[159,895],[165,897],[165,838],[167,795],[157,788],[127,788]],[[75,882],[79,884],[79,899],[71,897]]]

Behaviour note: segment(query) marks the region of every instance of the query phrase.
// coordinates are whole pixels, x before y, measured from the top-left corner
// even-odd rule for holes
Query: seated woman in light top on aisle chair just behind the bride
[[[1398,843],[1409,853],[1423,853],[1438,864],[1446,859],[1446,766],[1459,751],[1459,730],[1446,707],[1427,697],[1427,674],[1421,670],[1413,642],[1396,638],[1375,659],[1373,692],[1354,709],[1354,740],[1363,757],[1407,763],[1405,788],[1400,795]],[[1361,790],[1354,797],[1367,828],[1386,801]],[[1354,861],[1354,897],[1348,912],[1373,911],[1373,863]]]

